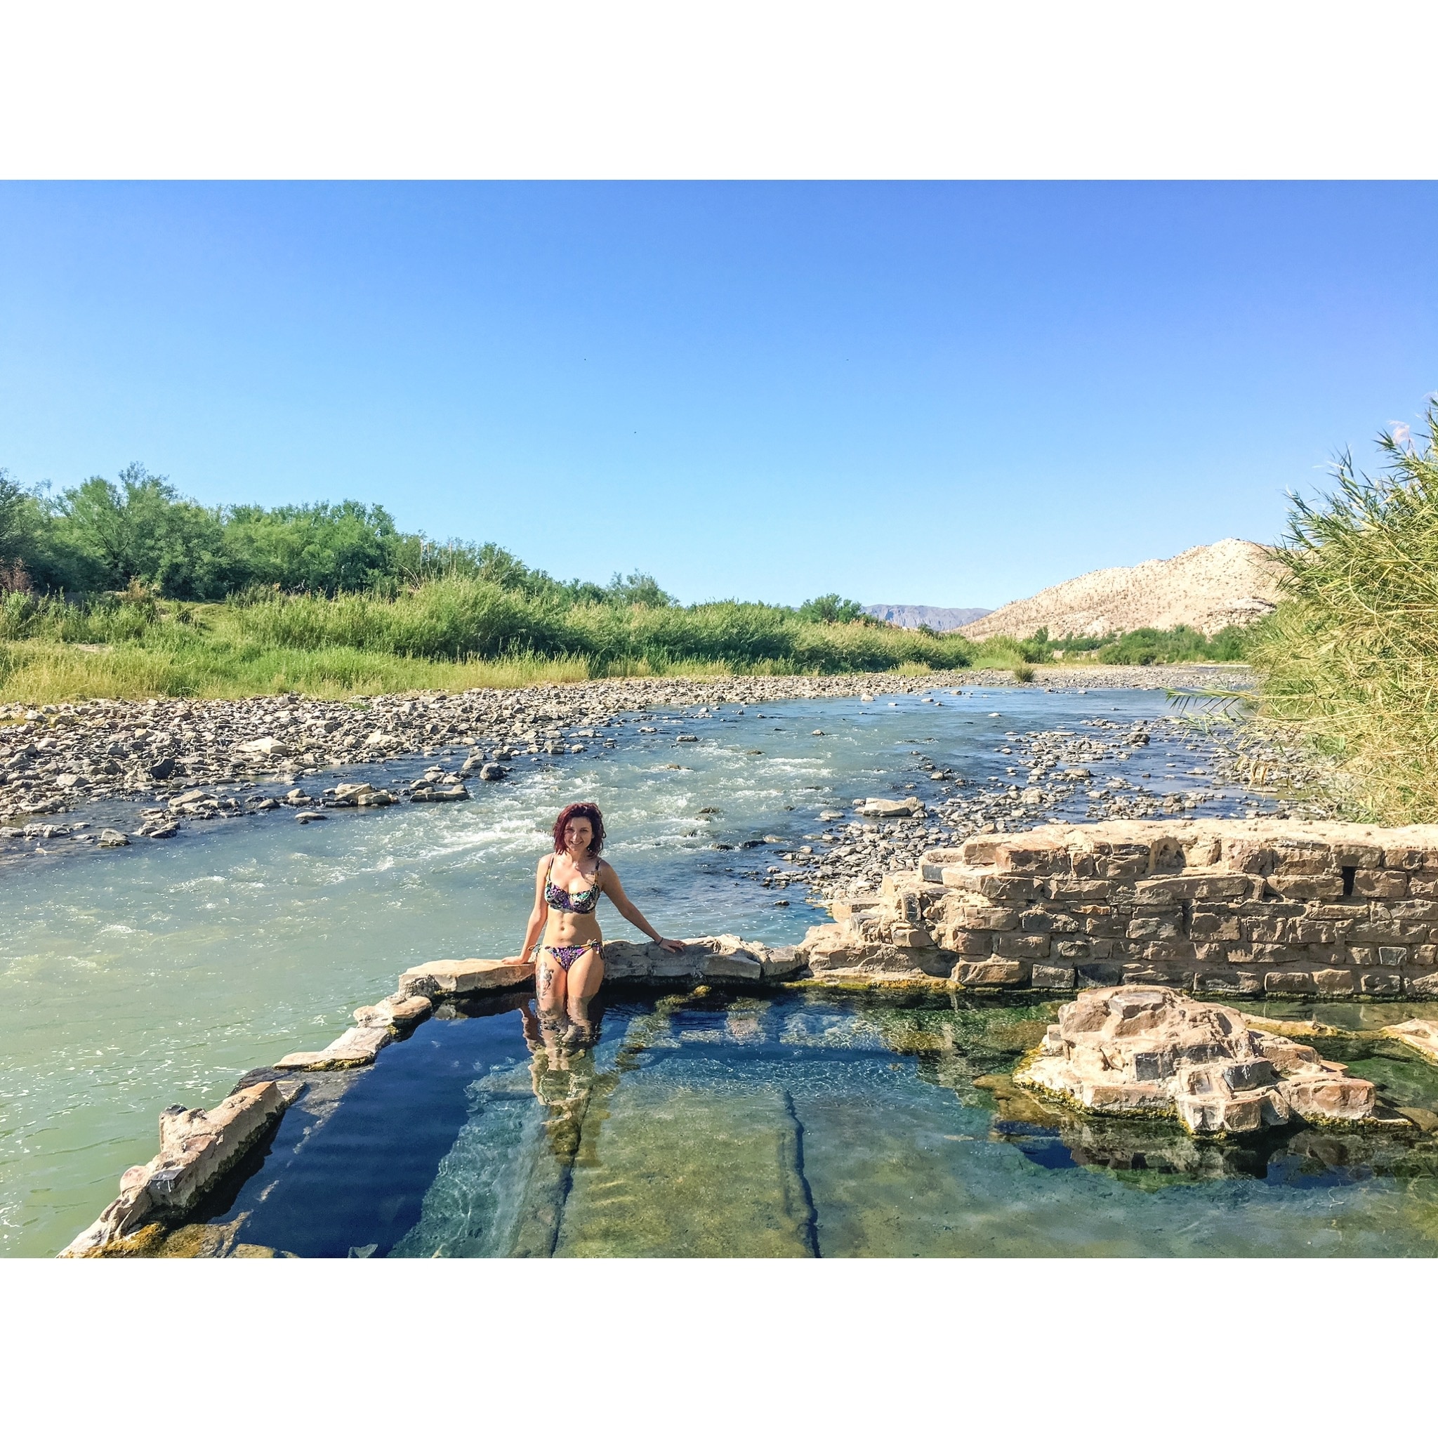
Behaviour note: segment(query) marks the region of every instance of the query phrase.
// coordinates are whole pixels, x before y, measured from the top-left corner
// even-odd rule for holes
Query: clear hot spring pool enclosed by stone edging
[[[1438,1133],[1198,1142],[1040,1104],[1011,1073],[1055,1005],[972,995],[613,994],[551,1063],[523,1001],[441,1009],[311,1074],[168,1254],[306,1257],[1432,1255]],[[1432,1112],[1378,1035],[1435,1005],[1268,1005]],[[1402,1014],[1399,1014],[1402,1009]],[[1255,1009],[1258,1011],[1258,1009]],[[1438,1129],[1435,1117],[1434,1129]]]

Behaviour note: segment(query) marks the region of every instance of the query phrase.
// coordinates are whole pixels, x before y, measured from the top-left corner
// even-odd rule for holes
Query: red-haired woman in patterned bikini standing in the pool
[[[535,958],[541,1030],[558,1037],[568,1015],[571,1034],[590,1035],[590,999],[604,981],[604,940],[594,916],[600,894],[636,929],[679,953],[683,943],[661,939],[630,902],[614,869],[600,858],[604,817],[597,804],[571,804],[555,820],[554,853],[539,860],[535,906],[525,930],[525,959]]]

